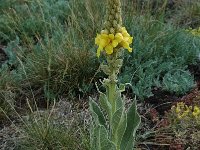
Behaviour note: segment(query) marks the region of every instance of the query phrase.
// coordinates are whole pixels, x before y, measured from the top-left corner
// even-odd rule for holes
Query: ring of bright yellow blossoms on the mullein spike
[[[100,56],[100,53],[103,50],[105,50],[106,54],[111,55],[114,52],[114,48],[117,46],[132,52],[132,48],[129,46],[132,42],[133,37],[128,34],[125,27],[122,27],[120,32],[115,35],[108,34],[107,31],[102,30],[101,34],[97,34],[97,37],[95,38],[95,44],[99,46],[97,49],[97,57]]]

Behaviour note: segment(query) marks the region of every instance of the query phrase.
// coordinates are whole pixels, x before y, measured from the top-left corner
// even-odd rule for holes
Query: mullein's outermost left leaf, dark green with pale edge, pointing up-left
[[[92,100],[92,98],[90,97],[90,112],[92,113],[92,116],[95,120],[96,125],[103,125],[106,128],[106,120],[105,117],[101,111],[101,109],[99,108],[98,104]]]

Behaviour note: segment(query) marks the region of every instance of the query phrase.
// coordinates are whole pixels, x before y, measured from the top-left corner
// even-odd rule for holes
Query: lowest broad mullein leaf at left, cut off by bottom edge
[[[94,128],[93,143],[91,150],[116,150],[115,145],[108,139],[108,132],[102,125]]]

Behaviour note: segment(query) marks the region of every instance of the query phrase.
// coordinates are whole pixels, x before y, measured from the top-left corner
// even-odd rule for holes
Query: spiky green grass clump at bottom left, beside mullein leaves
[[[63,115],[60,110],[59,112],[56,111],[57,109],[52,109],[49,112],[34,112],[24,117],[25,119],[23,119],[23,125],[20,127],[20,135],[16,141],[15,149],[89,149],[89,133],[81,125],[81,119],[78,118],[78,115],[75,112],[74,114]]]

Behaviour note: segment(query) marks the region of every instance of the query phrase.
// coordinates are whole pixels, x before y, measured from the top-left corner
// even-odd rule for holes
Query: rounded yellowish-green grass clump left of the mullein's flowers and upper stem
[[[47,38],[33,45],[32,53],[26,56],[19,70],[24,84],[29,82],[29,86],[43,88],[47,95],[55,97],[81,88],[84,82],[90,83],[97,68],[88,50],[71,45],[67,36],[62,37],[64,34],[59,36],[61,41]]]

